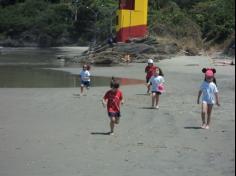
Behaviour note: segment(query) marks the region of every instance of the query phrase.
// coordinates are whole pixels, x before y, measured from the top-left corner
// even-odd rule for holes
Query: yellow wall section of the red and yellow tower
[[[148,0],[136,0],[135,10],[118,10],[118,25],[116,30],[121,28],[147,25]]]

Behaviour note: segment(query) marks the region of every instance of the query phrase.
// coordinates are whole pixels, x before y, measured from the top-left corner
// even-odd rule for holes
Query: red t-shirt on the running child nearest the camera
[[[120,112],[120,103],[123,100],[123,94],[120,90],[112,91],[109,90],[103,97],[107,102],[108,112]]]

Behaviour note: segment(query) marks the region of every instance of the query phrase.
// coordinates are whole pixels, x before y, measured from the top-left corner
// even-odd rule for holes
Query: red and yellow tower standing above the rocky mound
[[[147,35],[147,11],[148,0],[119,1],[116,26],[118,42]]]

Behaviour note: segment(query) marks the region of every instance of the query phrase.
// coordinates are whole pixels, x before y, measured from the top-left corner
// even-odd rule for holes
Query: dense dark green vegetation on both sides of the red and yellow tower
[[[117,5],[117,0],[0,0],[0,45],[102,42],[114,33]],[[235,0],[149,0],[149,31],[196,46],[221,44],[234,36]]]

